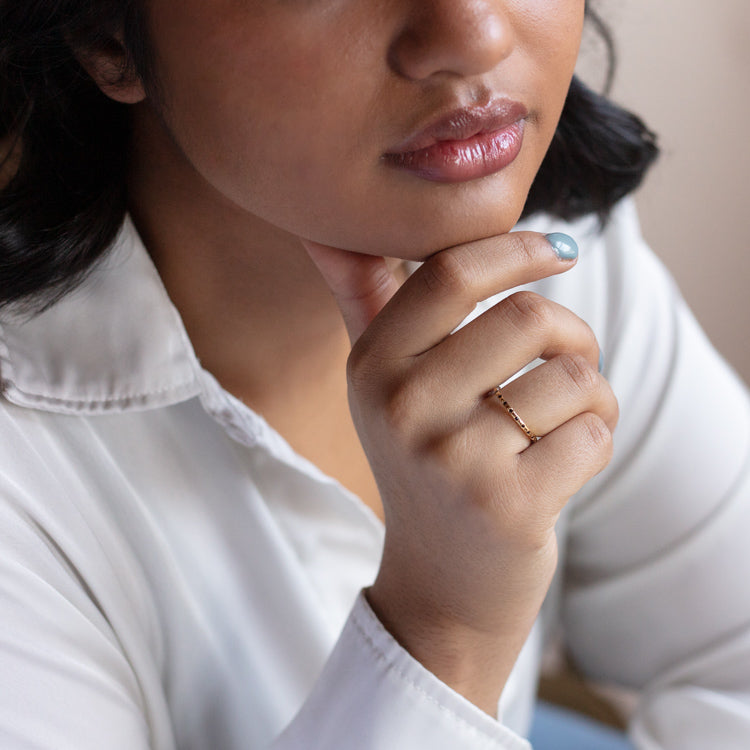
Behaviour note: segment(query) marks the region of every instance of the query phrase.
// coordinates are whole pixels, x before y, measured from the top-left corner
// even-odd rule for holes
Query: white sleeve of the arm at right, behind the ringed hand
[[[625,212],[611,230],[600,331],[621,420],[612,464],[568,519],[567,643],[592,678],[639,692],[639,749],[741,750],[750,403]]]

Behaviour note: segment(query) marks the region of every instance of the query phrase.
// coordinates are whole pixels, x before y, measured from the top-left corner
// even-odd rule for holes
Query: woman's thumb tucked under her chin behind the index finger
[[[385,258],[340,250],[302,240],[302,245],[325,279],[354,342],[396,293],[399,283]]]

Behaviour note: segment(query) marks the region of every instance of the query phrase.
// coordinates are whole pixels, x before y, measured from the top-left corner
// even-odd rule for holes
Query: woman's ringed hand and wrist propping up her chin
[[[590,328],[518,292],[455,333],[475,305],[560,273],[541,235],[449,248],[399,284],[383,258],[305,242],[344,316],[350,408],[386,519],[368,599],[394,637],[494,713],[549,587],[554,526],[608,463],[617,404]],[[531,443],[485,394],[503,395]]]

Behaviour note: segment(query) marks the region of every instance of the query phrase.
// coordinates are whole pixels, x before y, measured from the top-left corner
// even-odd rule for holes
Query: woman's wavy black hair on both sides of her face
[[[586,14],[605,40],[611,81],[611,37],[589,3]],[[142,0],[0,0],[0,308],[53,304],[122,224],[128,107],[102,94],[74,54],[115,38],[128,56],[121,74],[156,93]],[[656,153],[641,120],[574,78],[524,215],[604,221]]]

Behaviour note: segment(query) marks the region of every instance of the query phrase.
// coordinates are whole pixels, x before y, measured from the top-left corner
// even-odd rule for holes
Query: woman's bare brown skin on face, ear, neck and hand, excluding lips
[[[151,0],[161,105],[111,83],[111,52],[82,56],[134,104],[131,210],[204,366],[385,519],[373,608],[490,713],[554,572],[555,520],[607,463],[617,406],[588,326],[540,297],[451,331],[481,299],[572,265],[508,232],[583,6]],[[497,98],[528,111],[500,172],[436,184],[383,158]],[[394,258],[427,260],[404,282]],[[538,356],[504,391],[545,436],[530,446],[483,394]]]

